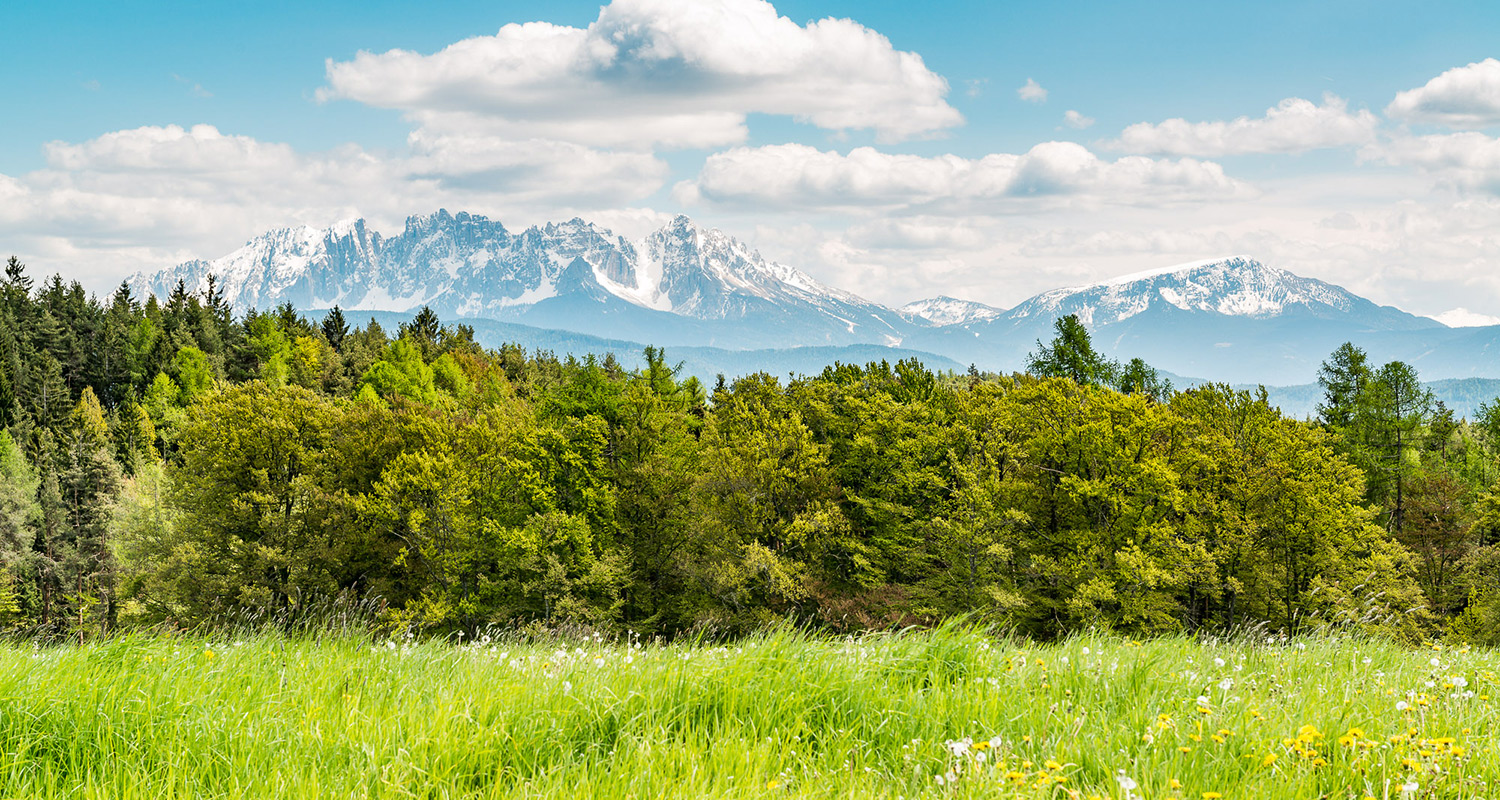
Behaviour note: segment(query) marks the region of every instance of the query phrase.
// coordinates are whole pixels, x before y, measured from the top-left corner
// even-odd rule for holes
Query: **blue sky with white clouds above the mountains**
[[[0,5],[0,255],[678,213],[872,300],[1250,255],[1500,323],[1500,6]]]

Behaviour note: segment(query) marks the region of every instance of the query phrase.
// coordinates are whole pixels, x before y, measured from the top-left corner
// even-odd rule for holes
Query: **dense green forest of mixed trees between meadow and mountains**
[[[963,615],[1017,635],[1500,641],[1500,410],[1346,344],[1317,419],[1174,389],[1076,318],[1026,374],[486,350],[428,309],[236,315],[0,282],[0,623],[672,636]]]

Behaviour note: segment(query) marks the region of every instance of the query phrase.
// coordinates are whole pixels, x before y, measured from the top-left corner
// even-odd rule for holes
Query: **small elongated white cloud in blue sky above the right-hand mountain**
[[[1334,95],[1323,105],[1287,98],[1260,119],[1230,122],[1136,123],[1106,143],[1110,150],[1173,156],[1230,156],[1244,153],[1304,153],[1324,147],[1350,147],[1374,140],[1380,122],[1370,111],[1348,111],[1348,102]]]

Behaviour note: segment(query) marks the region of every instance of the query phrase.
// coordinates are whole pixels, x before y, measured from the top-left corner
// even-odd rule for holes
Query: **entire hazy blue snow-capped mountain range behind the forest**
[[[1500,327],[1450,329],[1244,255],[1052,290],[1008,311],[952,297],[891,309],[686,216],[627,240],[582,219],[513,233],[440,210],[410,218],[390,237],[358,219],[282,228],[222,258],[136,275],[130,285],[165,296],[178,281],[201,290],[208,275],[242,311],[428,305],[446,320],[501,323],[477,326],[490,338],[548,339],[528,335],[540,329],[678,348],[771,348],[777,365],[800,363],[788,360],[789,348],[818,347],[826,363],[868,360],[868,345],[880,345],[894,348],[892,359],[940,356],[928,357],[938,368],[1020,369],[1035,342],[1050,339],[1056,317],[1077,314],[1112,357],[1140,356],[1202,380],[1305,384],[1344,341],[1377,363],[1407,360],[1425,380],[1500,377]],[[840,356],[854,345],[862,347]],[[730,360],[758,363],[750,353]]]

